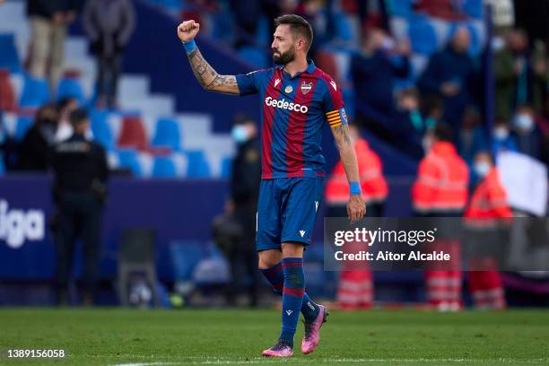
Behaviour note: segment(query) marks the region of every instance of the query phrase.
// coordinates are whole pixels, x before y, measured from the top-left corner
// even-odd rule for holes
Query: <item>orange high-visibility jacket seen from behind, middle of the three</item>
[[[453,144],[434,144],[420,162],[412,187],[414,210],[419,213],[460,213],[467,202],[469,169]]]

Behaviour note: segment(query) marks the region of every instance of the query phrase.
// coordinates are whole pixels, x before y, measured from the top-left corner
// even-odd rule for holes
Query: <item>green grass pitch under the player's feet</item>
[[[549,364],[549,311],[332,311],[315,353],[263,359],[275,310],[0,309],[0,365]],[[65,349],[8,360],[7,349]]]

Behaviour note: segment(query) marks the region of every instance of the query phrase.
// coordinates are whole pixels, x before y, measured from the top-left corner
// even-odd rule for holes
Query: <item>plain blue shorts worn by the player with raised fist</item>
[[[281,249],[282,243],[312,241],[324,179],[263,179],[257,202],[257,251]]]

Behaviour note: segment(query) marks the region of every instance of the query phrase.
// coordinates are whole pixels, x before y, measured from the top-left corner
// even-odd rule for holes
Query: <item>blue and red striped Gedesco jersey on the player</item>
[[[312,61],[293,77],[278,66],[236,79],[240,95],[262,100],[261,178],[324,177],[322,128],[347,123],[334,80]]]

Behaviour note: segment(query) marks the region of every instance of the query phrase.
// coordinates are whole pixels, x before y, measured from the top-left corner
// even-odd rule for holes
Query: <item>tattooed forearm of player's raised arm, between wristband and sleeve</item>
[[[217,74],[213,67],[208,64],[198,49],[187,55],[188,61],[196,76],[196,80],[207,91],[227,92],[237,94],[239,85],[234,75]]]

